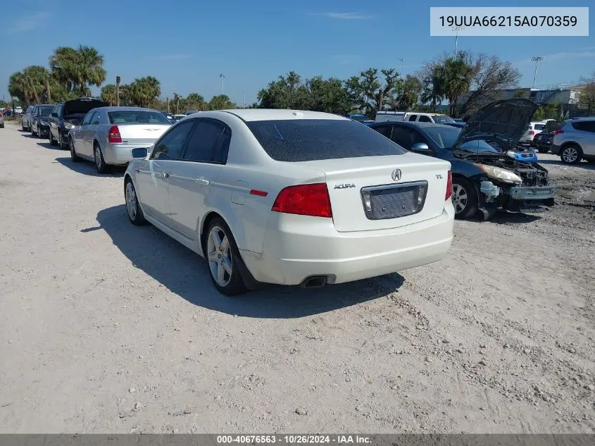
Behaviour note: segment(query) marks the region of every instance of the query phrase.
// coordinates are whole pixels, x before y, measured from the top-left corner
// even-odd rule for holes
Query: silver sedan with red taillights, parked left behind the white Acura
[[[170,128],[163,113],[139,107],[98,107],[70,130],[68,143],[73,161],[94,161],[99,173],[109,166],[124,166],[132,149],[147,149]]]

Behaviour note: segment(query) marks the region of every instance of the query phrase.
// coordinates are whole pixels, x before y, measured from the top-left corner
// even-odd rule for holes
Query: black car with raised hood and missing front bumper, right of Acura
[[[513,150],[536,109],[528,99],[504,99],[470,116],[463,129],[394,121],[370,128],[405,149],[450,161],[455,216],[471,218],[480,210],[487,220],[499,208],[532,213],[553,206],[548,171],[517,161]]]

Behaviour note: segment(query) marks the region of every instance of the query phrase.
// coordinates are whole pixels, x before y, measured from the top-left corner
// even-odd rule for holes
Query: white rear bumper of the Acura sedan
[[[264,283],[299,285],[313,275],[327,283],[376,277],[444,258],[453,240],[454,209],[390,230],[339,233],[330,218],[273,212],[263,253],[242,251],[253,277]]]

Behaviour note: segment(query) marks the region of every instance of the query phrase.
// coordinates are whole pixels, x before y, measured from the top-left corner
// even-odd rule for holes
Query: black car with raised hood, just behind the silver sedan
[[[106,107],[109,104],[92,97],[80,97],[72,101],[65,101],[54,107],[49,116],[49,143],[68,149],[68,132],[80,124],[84,115],[96,107]]]

